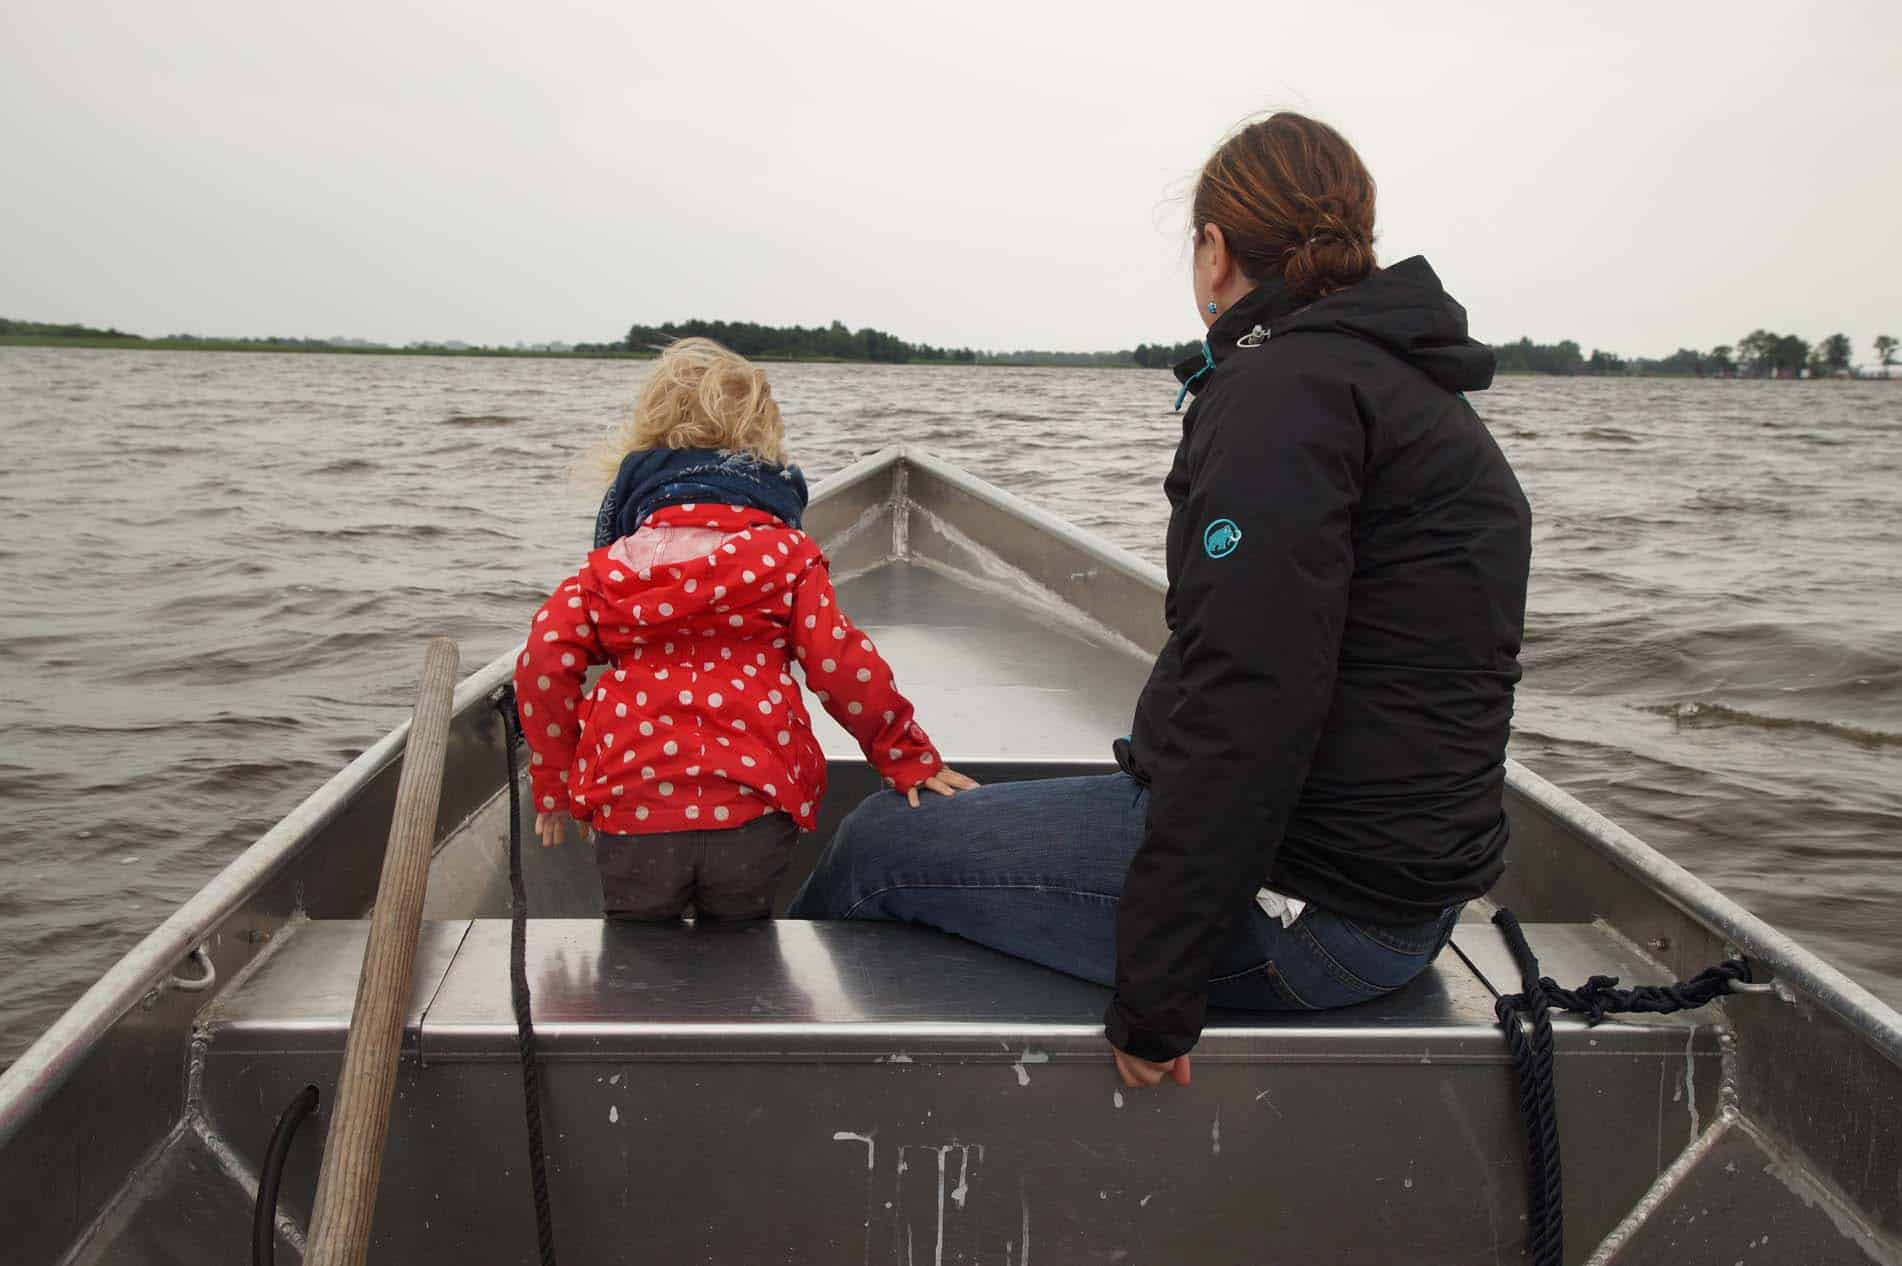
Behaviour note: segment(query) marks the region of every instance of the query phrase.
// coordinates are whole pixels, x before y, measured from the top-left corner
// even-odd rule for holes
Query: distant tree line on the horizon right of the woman
[[[1896,340],[1879,335],[1872,344],[1881,376],[1896,361]],[[1849,335],[1830,335],[1811,344],[1795,335],[1776,335],[1756,329],[1737,340],[1719,344],[1708,352],[1678,348],[1664,357],[1634,355],[1622,357],[1615,352],[1592,350],[1590,355],[1579,350],[1573,340],[1533,342],[1520,338],[1493,348],[1499,369],[1527,374],[1645,374],[1645,376],[1683,376],[1683,378],[1853,378],[1858,374],[1854,348]]]

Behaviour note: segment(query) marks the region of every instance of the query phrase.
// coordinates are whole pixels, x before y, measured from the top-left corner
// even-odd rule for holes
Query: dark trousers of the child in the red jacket
[[[692,905],[696,918],[765,918],[797,838],[786,814],[725,831],[603,834],[595,840],[601,911],[673,922]]]

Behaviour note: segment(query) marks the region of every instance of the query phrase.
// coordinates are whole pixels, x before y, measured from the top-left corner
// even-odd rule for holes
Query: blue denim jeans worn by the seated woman
[[[793,899],[793,918],[924,924],[1099,985],[1116,973],[1116,899],[1149,793],[1128,774],[993,783],[919,808],[879,793]],[[1210,1004],[1345,1007],[1388,994],[1446,949],[1459,907],[1404,928],[1309,905],[1284,928],[1253,901],[1210,973]]]

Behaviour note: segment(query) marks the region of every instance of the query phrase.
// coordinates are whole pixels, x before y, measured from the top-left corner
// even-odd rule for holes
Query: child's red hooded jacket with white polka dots
[[[534,612],[515,662],[534,808],[611,834],[738,827],[774,810],[810,831],[825,755],[795,660],[900,791],[938,772],[810,536],[763,509],[656,509]],[[584,698],[593,663],[611,667]]]

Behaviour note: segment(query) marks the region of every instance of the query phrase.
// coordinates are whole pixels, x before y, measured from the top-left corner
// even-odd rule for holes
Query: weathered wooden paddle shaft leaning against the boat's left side
[[[403,1017],[422,931],[422,890],[430,878],[436,810],[443,798],[456,658],[456,644],[447,637],[432,639],[422,658],[417,715],[409,722],[403,774],[396,785],[396,815],[382,855],[356,1009],[350,1013],[331,1133],[323,1144],[304,1266],[361,1266],[369,1253],[396,1063],[403,1051]]]

